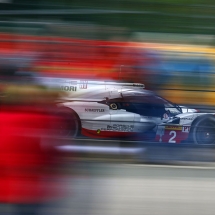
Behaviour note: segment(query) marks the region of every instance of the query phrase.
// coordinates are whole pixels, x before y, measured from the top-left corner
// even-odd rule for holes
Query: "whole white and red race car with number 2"
[[[140,83],[53,79],[67,137],[215,143],[215,114],[173,104]]]

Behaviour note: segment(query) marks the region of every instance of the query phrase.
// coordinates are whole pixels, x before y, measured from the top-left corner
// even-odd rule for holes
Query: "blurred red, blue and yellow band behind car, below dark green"
[[[0,58],[24,70],[142,82],[185,105],[215,106],[212,46],[0,34]]]

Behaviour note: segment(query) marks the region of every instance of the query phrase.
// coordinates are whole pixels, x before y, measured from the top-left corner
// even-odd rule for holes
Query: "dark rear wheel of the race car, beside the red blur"
[[[56,114],[60,116],[61,123],[57,128],[61,137],[78,137],[81,130],[81,122],[77,113],[69,108],[60,107]]]

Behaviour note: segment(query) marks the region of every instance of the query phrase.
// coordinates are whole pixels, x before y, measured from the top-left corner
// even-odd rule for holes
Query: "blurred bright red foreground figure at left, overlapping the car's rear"
[[[0,213],[39,214],[65,196],[63,163],[54,148],[62,121],[54,114],[58,93],[25,83],[10,65],[0,71]]]

